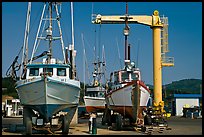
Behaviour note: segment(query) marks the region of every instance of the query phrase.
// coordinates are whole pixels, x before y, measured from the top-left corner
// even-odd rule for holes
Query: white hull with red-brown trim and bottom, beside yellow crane
[[[139,81],[127,83],[124,87],[106,94],[109,109],[127,117],[133,123],[142,118],[142,110],[147,107],[150,91]]]

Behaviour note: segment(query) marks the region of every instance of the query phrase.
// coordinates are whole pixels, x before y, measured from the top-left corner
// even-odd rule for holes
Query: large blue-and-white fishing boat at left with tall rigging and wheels
[[[76,80],[73,67],[75,50],[70,46],[69,61],[68,48],[65,50],[60,26],[61,4],[44,3],[31,58],[28,60],[31,12],[31,3],[28,3],[21,73],[16,82],[16,90],[23,105],[26,134],[32,134],[32,129],[49,132],[61,130],[63,134],[68,134],[70,122],[79,104],[80,81]],[[73,10],[72,3],[71,8]],[[57,29],[54,28],[54,23],[57,24],[58,31],[55,31]],[[53,41],[59,41],[59,44]],[[35,56],[41,45],[48,49]],[[63,59],[59,59],[53,52],[60,47]],[[40,62],[36,62],[40,59]]]

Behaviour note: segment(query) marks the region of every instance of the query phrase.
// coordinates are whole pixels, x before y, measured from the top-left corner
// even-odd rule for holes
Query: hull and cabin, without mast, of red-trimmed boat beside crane
[[[108,109],[128,118],[131,123],[143,124],[140,119],[143,119],[142,111],[148,105],[150,90],[141,80],[140,71],[134,63],[111,73],[108,84],[109,90],[105,95]]]

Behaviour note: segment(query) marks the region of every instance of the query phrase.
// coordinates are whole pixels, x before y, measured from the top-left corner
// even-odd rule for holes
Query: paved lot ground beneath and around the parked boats
[[[23,118],[2,118],[2,135],[24,135]],[[14,126],[16,125],[16,126]],[[171,130],[163,133],[152,132],[152,135],[202,135],[202,118],[190,119],[172,116],[168,120]],[[76,126],[70,126],[69,135],[90,135],[88,119],[80,118]],[[34,135],[50,134],[47,131],[33,131]],[[59,132],[55,132],[60,135]],[[101,125],[101,118],[97,118],[97,135],[146,135],[136,131],[134,127],[124,127],[122,131],[113,131],[108,126]]]

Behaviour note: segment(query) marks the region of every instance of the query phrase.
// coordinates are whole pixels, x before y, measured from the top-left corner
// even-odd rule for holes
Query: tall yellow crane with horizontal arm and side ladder
[[[92,19],[94,24],[142,24],[149,26],[153,31],[153,85],[154,103],[153,107],[159,112],[164,112],[162,100],[162,67],[174,66],[174,58],[166,57],[168,50],[168,18],[160,18],[158,10],[151,16],[147,15],[95,15]]]

